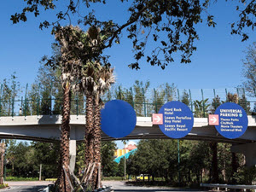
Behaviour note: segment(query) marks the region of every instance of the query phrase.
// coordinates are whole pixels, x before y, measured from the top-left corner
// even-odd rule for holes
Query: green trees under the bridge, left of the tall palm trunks
[[[38,177],[42,164],[42,177],[56,177],[58,143],[16,143],[10,140],[6,149],[7,172],[14,177]]]

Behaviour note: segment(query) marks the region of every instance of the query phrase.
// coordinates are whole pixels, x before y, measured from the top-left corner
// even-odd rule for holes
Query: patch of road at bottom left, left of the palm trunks
[[[0,189],[0,192],[37,192],[39,189],[44,189],[51,184],[51,182],[45,181],[32,181],[32,182],[7,182],[9,189]]]

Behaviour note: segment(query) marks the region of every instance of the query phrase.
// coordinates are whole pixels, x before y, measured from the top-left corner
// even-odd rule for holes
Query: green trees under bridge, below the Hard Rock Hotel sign
[[[127,163],[131,175],[150,174],[153,177],[174,177],[177,168],[177,143],[174,140],[141,140],[137,153]]]

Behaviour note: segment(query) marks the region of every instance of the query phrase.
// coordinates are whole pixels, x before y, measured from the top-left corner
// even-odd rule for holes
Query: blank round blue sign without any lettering
[[[102,131],[110,137],[128,136],[136,122],[136,113],[128,102],[113,100],[102,109]]]

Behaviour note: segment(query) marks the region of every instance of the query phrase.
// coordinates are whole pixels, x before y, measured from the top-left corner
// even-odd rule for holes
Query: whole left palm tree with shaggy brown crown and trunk
[[[61,56],[57,61],[49,60],[49,65],[60,67],[61,83],[63,89],[62,103],[62,121],[61,121],[61,147],[59,162],[59,177],[55,186],[59,191],[71,191],[68,183],[69,176],[69,137],[70,137],[70,109],[71,109],[71,89],[72,84],[77,83],[80,77],[81,61],[78,56],[78,50],[83,46],[80,43],[82,31],[78,26],[65,26],[55,31],[55,39],[61,46]],[[54,65],[53,65],[54,64]],[[66,174],[63,170],[63,167]]]

